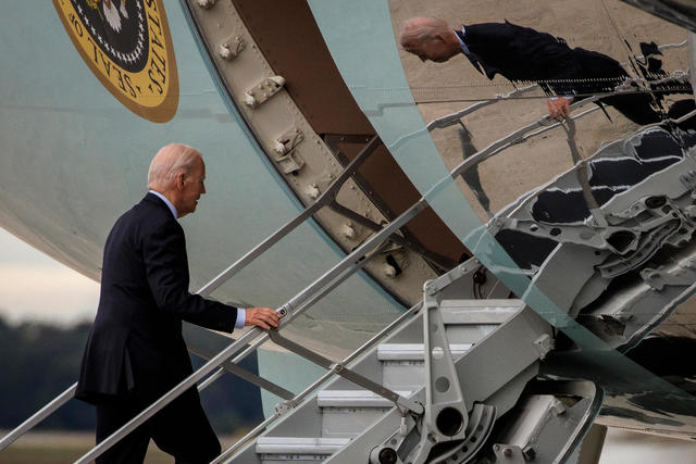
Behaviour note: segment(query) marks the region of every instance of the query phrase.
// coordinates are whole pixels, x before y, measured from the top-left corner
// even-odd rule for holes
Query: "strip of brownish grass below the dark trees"
[[[0,430],[0,437],[7,430]],[[235,437],[220,437],[223,449],[229,447]],[[25,435],[0,452],[0,464],[66,464],[89,451],[95,444],[94,434],[36,431]],[[174,457],[160,451],[150,441],[146,464],[172,464]]]

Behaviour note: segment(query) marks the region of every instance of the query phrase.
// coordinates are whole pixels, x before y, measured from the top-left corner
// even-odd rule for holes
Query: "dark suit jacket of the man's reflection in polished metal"
[[[539,81],[548,93],[583,95],[610,92],[629,74],[606,54],[571,49],[561,38],[509,22],[464,25],[465,35],[456,34],[470,50],[467,57],[489,79],[496,74],[513,81]],[[554,81],[583,79],[581,81]],[[593,80],[596,79],[596,80]],[[660,121],[646,93],[607,97],[602,103],[614,106],[631,121],[645,125]]]

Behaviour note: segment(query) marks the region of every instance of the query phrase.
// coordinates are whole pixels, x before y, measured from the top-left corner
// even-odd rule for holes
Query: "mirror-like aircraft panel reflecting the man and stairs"
[[[564,359],[570,367],[563,375],[586,375],[602,385],[609,393],[605,413],[610,419],[621,416],[623,425],[636,427],[639,427],[636,424],[645,427],[652,421],[670,432],[696,431],[696,424],[688,418],[696,411],[689,392],[614,351],[614,348],[631,346],[633,334],[643,330],[639,338],[646,327],[657,326],[694,291],[694,279],[667,278],[667,286],[681,285],[682,290],[672,297],[657,290],[662,300],[651,309],[651,316],[639,309],[632,314],[630,298],[621,297],[621,286],[626,286],[625,276],[641,272],[646,275],[646,268],[654,267],[669,274],[669,269],[661,266],[680,260],[678,254],[687,253],[687,243],[692,240],[691,220],[685,220],[687,227],[673,228],[680,217],[686,217],[691,204],[692,123],[684,120],[679,125],[659,125],[662,118],[679,118],[694,109],[685,75],[689,68],[686,32],[625,4],[608,1],[592,5],[586,2],[473,2],[465,8],[458,2],[406,1],[388,5],[362,2],[360,7],[351,5],[350,12],[339,2],[310,1],[310,5],[356,100],[428,203],[488,269],[562,330],[569,347],[580,350],[574,352],[574,358]],[[513,90],[513,85],[523,87],[535,83],[526,79],[513,84],[500,75],[489,80],[463,53],[445,63],[421,63],[398,42],[405,22],[413,16],[445,18],[457,29],[462,23],[465,27],[507,20],[535,29],[534,34],[562,37],[571,50],[581,47],[601,53],[612,63],[624,63],[629,78],[623,84],[612,83],[613,89],[591,86],[588,91],[587,86],[583,90],[581,85],[592,83],[587,80],[592,76],[573,75],[569,79],[576,88],[566,87],[559,91],[558,86],[552,87],[557,84],[552,81],[555,76],[539,71],[542,78],[536,79],[536,84],[540,86],[534,92],[488,104],[462,117],[460,126],[434,130],[431,139],[425,130],[430,121],[495,99],[499,93]],[[357,30],[369,33],[355,34]],[[642,47],[641,42],[645,45]],[[666,47],[662,54],[656,51],[659,51],[657,46],[671,43],[681,46]],[[493,50],[496,51],[508,52],[497,57],[499,60],[514,59],[510,49]],[[649,53],[654,53],[650,61],[645,58]],[[371,72],[364,73],[365,67]],[[668,80],[663,80],[666,78]],[[629,88],[632,89],[629,93],[613,93]],[[605,99],[604,109],[563,122],[543,136],[521,139],[520,143],[478,164],[477,176],[469,172],[469,178],[443,181],[448,171],[460,165],[463,159],[545,116],[546,101],[556,93],[572,96],[575,101],[596,96]],[[607,101],[613,97],[623,100]],[[636,112],[649,117],[642,118]],[[657,118],[650,120],[654,116]],[[636,121],[656,125],[642,129]],[[550,126],[554,121],[547,118],[546,124]],[[675,171],[676,177],[668,177],[670,170]],[[657,176],[664,178],[654,181]],[[679,180],[679,176],[686,177]],[[611,206],[619,203],[619,199],[631,199],[630,204],[647,200],[649,206],[654,206],[648,208],[649,211],[662,208],[666,203],[657,204],[661,200],[649,200],[655,196],[668,197],[670,204],[681,202],[675,212],[678,217],[666,217],[660,223],[661,215],[671,217],[671,210],[666,209],[655,216],[649,212],[641,217],[624,215],[623,221],[631,225],[622,226],[612,216]],[[643,211],[645,209],[635,210],[636,213]],[[484,227],[482,221],[488,221],[488,213],[496,217]],[[531,214],[533,221],[525,223],[524,214]],[[648,216],[657,222],[641,229],[639,222],[649,222]],[[599,231],[604,234],[604,241],[593,242]],[[679,244],[672,244],[675,242],[671,240],[680,234]],[[559,242],[563,243],[560,248]],[[630,253],[633,261],[627,256]],[[556,260],[549,259],[551,255]],[[649,262],[650,258],[658,261]],[[592,276],[601,273],[598,266],[605,265],[605,271],[613,268],[612,260],[618,260],[624,268],[609,277],[610,284],[594,286]],[[642,278],[641,281],[646,285]],[[576,298],[577,291],[568,288],[573,285],[577,290],[589,291],[592,297]],[[625,291],[634,290],[625,287]],[[617,305],[622,311],[613,306],[612,312],[606,298],[619,299]],[[571,311],[573,304],[579,308]],[[612,312],[611,317],[607,317],[607,312]],[[618,331],[620,337],[612,339],[607,336],[610,319],[620,319],[619,313],[630,321],[643,318],[643,323],[636,324],[633,331],[631,323],[624,323]],[[575,318],[577,315],[581,317]],[[600,322],[583,324],[583,316]],[[679,414],[679,419],[670,423],[664,410],[638,397],[650,398],[650,401],[669,398],[671,404],[678,404],[679,411],[672,410],[671,415]]]

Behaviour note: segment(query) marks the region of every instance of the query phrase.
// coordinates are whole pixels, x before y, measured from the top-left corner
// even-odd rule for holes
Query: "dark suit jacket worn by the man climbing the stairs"
[[[76,398],[99,403],[137,394],[151,401],[191,374],[182,321],[232,333],[237,310],[189,293],[188,285],[184,229],[148,193],[107,239]]]

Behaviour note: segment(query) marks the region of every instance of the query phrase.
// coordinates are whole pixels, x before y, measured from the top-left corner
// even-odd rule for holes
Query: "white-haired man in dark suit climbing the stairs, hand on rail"
[[[277,327],[268,308],[246,310],[188,291],[184,229],[196,211],[206,165],[195,149],[172,143],[150,164],[150,191],[115,223],[104,246],[101,293],[76,398],[97,406],[97,442],[192,373],[182,321],[232,333]],[[98,463],[141,463],[150,438],[177,463],[207,463],[221,447],[194,387],[130,432]]]

